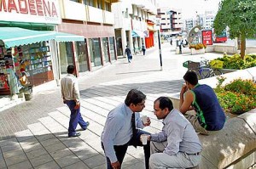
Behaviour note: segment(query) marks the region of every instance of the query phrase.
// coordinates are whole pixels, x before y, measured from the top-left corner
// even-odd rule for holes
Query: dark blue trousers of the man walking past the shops
[[[76,133],[75,130],[76,130],[78,124],[82,128],[86,127],[87,124],[83,120],[83,117],[80,113],[80,108],[78,110],[74,110],[74,107],[76,105],[76,102],[74,100],[68,100],[68,101],[66,101],[66,104],[67,104],[69,110],[71,111],[69,127],[68,127],[68,136],[72,136]]]

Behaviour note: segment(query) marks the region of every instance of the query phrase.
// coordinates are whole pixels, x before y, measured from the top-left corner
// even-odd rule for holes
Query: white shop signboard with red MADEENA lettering
[[[61,24],[58,0],[0,0],[0,21]]]

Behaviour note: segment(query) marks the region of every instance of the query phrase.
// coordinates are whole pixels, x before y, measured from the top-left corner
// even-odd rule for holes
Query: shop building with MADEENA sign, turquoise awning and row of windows
[[[116,2],[0,1],[0,94],[19,93],[20,71],[37,86],[59,83],[67,65],[75,65],[79,76],[117,59]]]

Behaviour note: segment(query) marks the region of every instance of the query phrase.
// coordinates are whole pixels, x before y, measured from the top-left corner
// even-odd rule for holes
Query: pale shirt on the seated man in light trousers
[[[151,134],[154,142],[164,142],[164,153],[176,155],[177,152],[195,154],[201,152],[201,143],[191,123],[178,110],[173,109],[163,121],[162,132]]]

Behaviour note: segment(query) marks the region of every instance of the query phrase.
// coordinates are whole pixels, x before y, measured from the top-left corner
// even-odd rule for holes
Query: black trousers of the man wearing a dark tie
[[[114,145],[113,149],[115,151],[115,155],[120,163],[122,165],[122,162],[125,158],[126,150],[128,146],[133,145],[133,146],[143,146],[144,149],[144,156],[145,156],[145,168],[149,169],[148,162],[149,162],[149,157],[150,157],[150,142],[147,143],[147,145],[143,145],[143,143],[140,140],[140,137],[142,134],[149,134],[148,132],[145,132],[143,130],[137,130],[137,136],[136,136],[136,143],[131,144],[131,142],[128,142],[127,144],[124,145]],[[102,149],[104,150],[104,146],[102,144]],[[113,169],[111,166],[111,161],[109,160],[108,157],[107,159],[107,168],[108,169]],[[115,162],[115,161],[114,161]]]

